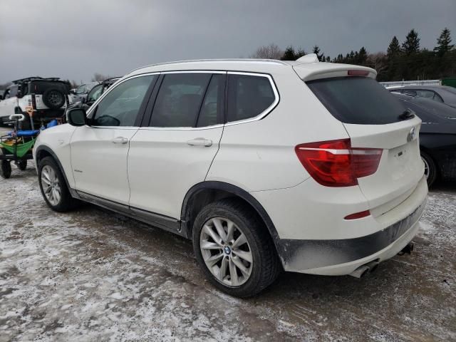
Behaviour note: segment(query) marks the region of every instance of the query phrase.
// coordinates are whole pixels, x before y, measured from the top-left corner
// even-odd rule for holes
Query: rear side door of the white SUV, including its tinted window
[[[222,138],[225,78],[211,71],[160,76],[151,117],[128,153],[130,209],[139,216],[180,218],[185,194],[204,181]]]

